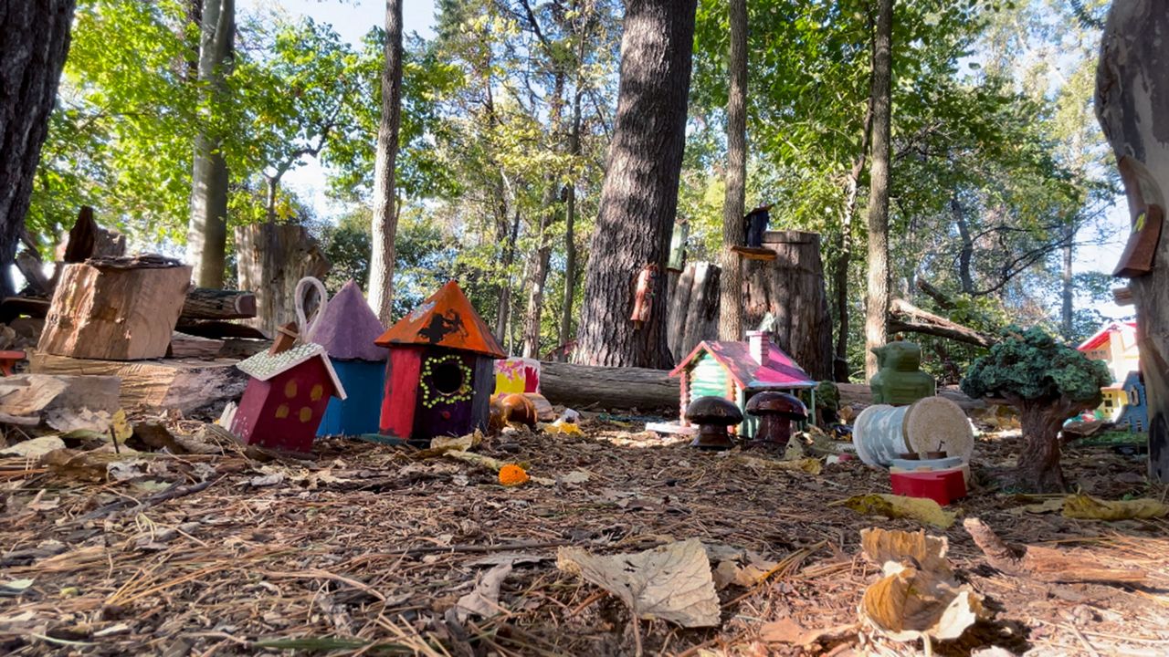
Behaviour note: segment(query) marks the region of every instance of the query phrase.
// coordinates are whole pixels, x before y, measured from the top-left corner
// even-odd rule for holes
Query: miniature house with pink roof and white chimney
[[[741,343],[704,340],[670,372],[670,376],[680,380],[679,421],[683,427],[690,426],[686,407],[701,396],[719,396],[745,410],[747,400],[763,390],[789,394],[808,390],[809,407],[816,406],[816,381],[762,331],[748,332],[747,340]],[[756,424],[758,419],[745,415],[738,431],[743,437],[754,437]]]

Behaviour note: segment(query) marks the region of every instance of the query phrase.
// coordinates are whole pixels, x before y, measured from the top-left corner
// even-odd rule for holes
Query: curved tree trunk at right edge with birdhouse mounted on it
[[[1169,2],[1113,2],[1100,43],[1097,118],[1118,159],[1143,170],[1125,179],[1133,219],[1165,209],[1169,191]],[[1149,409],[1149,477],[1169,482],[1169,237],[1150,274],[1128,283],[1136,306],[1141,374]]]

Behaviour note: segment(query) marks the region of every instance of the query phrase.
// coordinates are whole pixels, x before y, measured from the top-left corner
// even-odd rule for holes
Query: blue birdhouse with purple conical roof
[[[353,281],[328,299],[314,325],[312,341],[325,347],[348,396],[328,402],[317,429],[318,436],[360,436],[378,431],[387,352],[374,340],[385,331]]]

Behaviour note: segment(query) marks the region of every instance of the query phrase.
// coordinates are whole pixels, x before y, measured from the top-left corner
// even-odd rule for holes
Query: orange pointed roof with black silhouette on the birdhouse
[[[499,341],[459,289],[449,281],[378,338],[382,347],[427,345],[505,358]]]

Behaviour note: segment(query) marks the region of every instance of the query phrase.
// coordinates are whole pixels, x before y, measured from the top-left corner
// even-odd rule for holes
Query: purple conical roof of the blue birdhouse
[[[325,347],[338,360],[386,360],[386,350],[374,344],[386,327],[374,314],[353,281],[328,299],[325,313],[317,321],[312,341]]]

